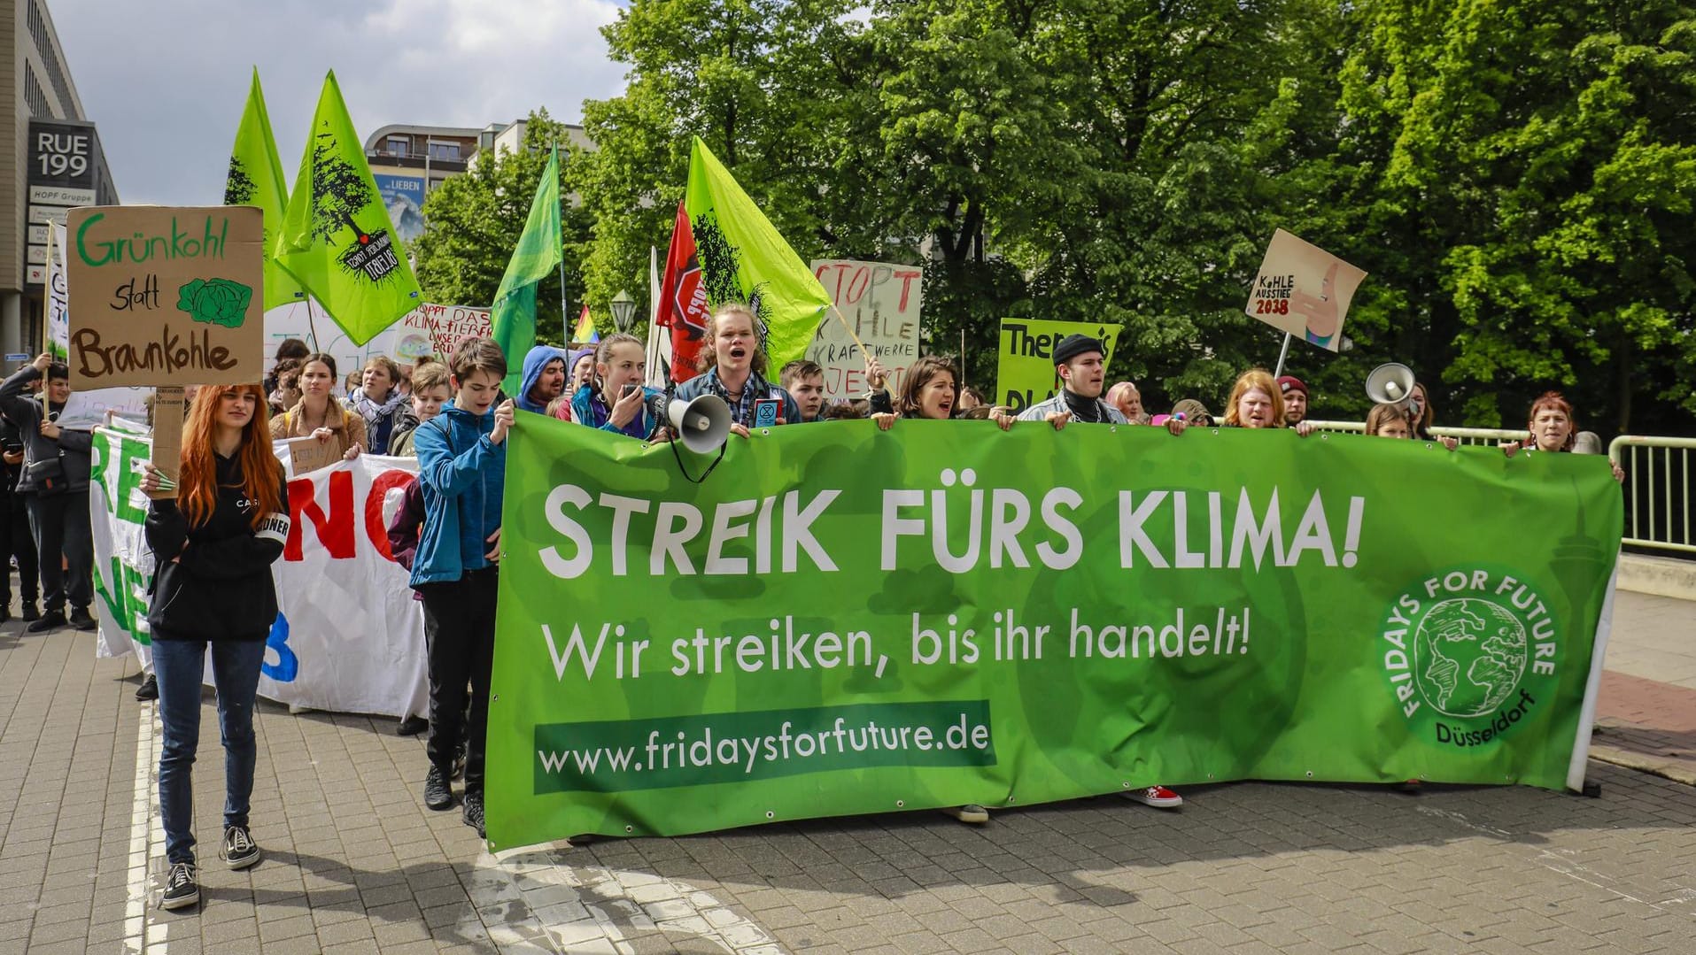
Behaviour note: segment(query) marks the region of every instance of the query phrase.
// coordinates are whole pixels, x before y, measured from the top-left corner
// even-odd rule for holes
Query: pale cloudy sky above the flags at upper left
[[[336,71],[361,137],[392,124],[566,122],[624,88],[612,0],[49,0],[126,204],[215,205],[253,66],[290,183]]]

